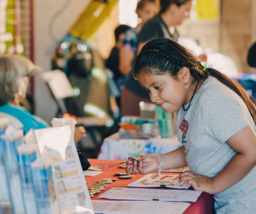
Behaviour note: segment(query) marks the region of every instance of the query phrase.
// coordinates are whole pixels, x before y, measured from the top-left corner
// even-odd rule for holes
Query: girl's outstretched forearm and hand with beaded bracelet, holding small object
[[[179,147],[174,151],[171,151],[165,154],[160,154],[162,163],[164,164],[163,169],[172,169],[172,168],[187,166],[185,156],[186,154],[184,152],[183,146]],[[158,170],[160,159],[156,155],[144,154],[144,155],[138,156],[138,159],[141,161],[138,167],[137,167],[137,161],[134,161],[133,165],[131,161],[126,162],[127,173],[135,172],[139,174],[148,174],[150,172],[154,172]]]

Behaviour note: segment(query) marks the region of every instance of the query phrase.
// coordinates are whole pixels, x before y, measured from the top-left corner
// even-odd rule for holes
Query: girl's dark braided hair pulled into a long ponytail
[[[162,75],[168,72],[174,79],[177,79],[177,73],[182,67],[190,69],[193,83],[197,80],[203,81],[208,76],[214,76],[236,92],[247,105],[256,124],[256,106],[245,94],[244,89],[236,81],[213,68],[207,68],[204,71],[201,62],[189,50],[173,39],[153,39],[144,45],[136,57],[133,75],[136,77],[142,72]]]

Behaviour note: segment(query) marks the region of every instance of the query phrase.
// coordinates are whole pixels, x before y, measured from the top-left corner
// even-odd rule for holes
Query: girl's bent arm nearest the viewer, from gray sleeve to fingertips
[[[216,194],[228,189],[243,179],[256,164],[256,135],[251,126],[246,126],[227,140],[227,144],[237,152],[226,167],[215,177],[197,175],[191,171],[180,175],[179,180],[187,180],[195,190]]]

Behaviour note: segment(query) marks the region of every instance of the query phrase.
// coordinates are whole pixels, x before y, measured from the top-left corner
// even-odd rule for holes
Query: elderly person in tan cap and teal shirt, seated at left
[[[0,112],[17,118],[24,125],[24,132],[31,128],[46,128],[49,124],[31,114],[20,105],[26,98],[29,76],[42,72],[42,68],[34,65],[28,58],[10,55],[0,57]],[[83,126],[76,127],[75,142],[85,137]]]

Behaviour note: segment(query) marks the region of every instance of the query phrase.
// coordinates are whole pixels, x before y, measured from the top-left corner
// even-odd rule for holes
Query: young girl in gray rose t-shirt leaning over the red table
[[[148,42],[134,75],[153,103],[175,112],[182,146],[127,161],[126,171],[147,174],[188,166],[179,181],[214,194],[217,213],[255,213],[256,108],[227,76],[206,68],[174,40]]]

